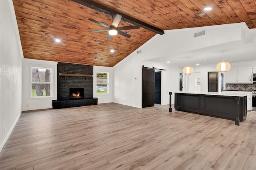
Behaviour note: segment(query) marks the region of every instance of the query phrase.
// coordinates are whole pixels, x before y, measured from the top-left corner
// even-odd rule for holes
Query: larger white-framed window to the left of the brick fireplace
[[[31,67],[31,97],[52,97],[52,68]]]

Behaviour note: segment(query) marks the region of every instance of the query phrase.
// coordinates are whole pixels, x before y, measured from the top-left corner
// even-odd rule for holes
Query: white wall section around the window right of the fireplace
[[[96,72],[108,72],[108,82],[109,82],[109,93],[108,94],[96,94]],[[111,103],[113,102],[113,67],[104,67],[104,66],[93,66],[93,97],[98,98],[98,104],[101,103]]]

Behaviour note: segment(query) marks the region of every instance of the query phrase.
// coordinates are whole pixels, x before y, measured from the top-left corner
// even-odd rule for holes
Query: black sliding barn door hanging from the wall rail
[[[142,67],[142,108],[154,106],[155,69]]]

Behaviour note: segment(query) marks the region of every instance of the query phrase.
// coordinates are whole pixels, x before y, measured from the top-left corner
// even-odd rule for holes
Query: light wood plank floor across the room
[[[168,106],[27,111],[0,153],[0,169],[255,170],[256,112],[236,126]]]

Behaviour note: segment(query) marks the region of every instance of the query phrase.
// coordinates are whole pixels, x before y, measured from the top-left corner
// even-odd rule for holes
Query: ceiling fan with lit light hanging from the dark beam
[[[124,37],[130,38],[131,37],[130,35],[128,35],[127,33],[124,33],[121,30],[140,28],[140,26],[138,26],[138,25],[117,27],[119,22],[121,21],[122,16],[120,16],[119,14],[116,14],[116,16],[115,16],[115,14],[112,14],[111,16],[112,16],[112,21],[113,22],[112,22],[112,25],[110,25],[110,26],[105,25],[104,23],[101,23],[101,22],[98,22],[98,21],[95,21],[95,20],[89,18],[88,20],[93,21],[93,22],[98,23],[99,25],[101,25],[103,27],[108,28],[108,29],[101,29],[101,30],[95,30],[95,31],[89,31],[89,32],[108,31],[108,39],[110,39],[113,35],[117,35],[117,34],[120,34],[120,35],[123,35]],[[114,16],[115,16],[115,19],[114,19]]]

